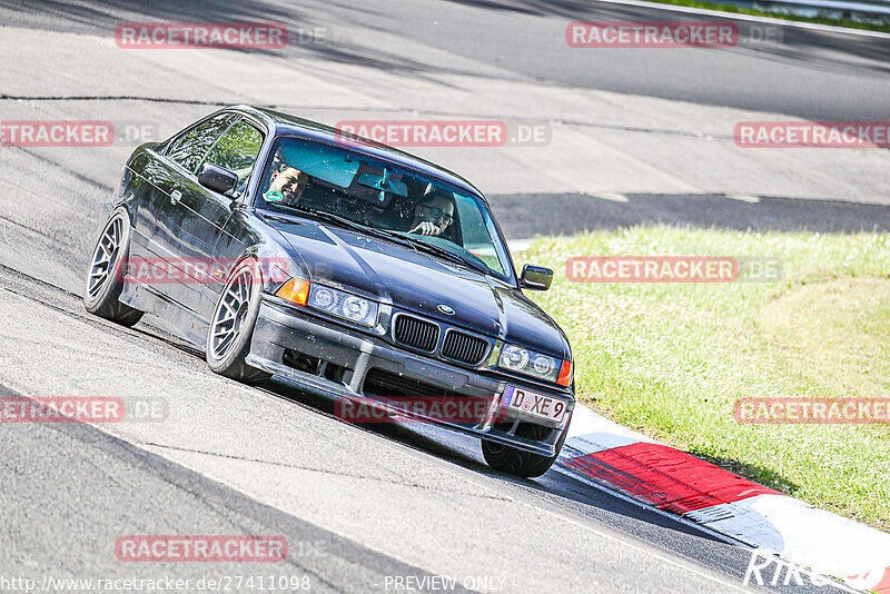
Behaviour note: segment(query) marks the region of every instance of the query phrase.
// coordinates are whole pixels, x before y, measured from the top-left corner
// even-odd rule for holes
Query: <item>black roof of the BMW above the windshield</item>
[[[290,116],[288,113],[273,111],[270,109],[239,105],[225,108],[221,111],[228,110],[240,111],[265,121],[269,128],[269,131],[273,132],[274,136],[286,133],[313,140],[322,140],[329,143],[339,142],[344,147],[348,146],[350,150],[368,157],[390,161],[394,165],[399,165],[402,167],[419,171],[421,174],[443,179],[452,186],[456,186],[485,200],[485,197],[478,188],[454,171],[449,171],[434,162],[427,161],[426,159],[422,159],[421,157],[411,155],[409,152],[405,152],[397,148],[393,148],[387,145],[354,135],[349,136],[349,141],[347,145],[344,142],[344,132],[337,128],[319,123],[317,121],[298,118],[296,116]]]

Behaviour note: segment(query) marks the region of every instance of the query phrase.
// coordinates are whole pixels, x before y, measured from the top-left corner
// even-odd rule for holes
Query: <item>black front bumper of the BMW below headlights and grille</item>
[[[312,360],[319,359],[320,368],[312,372],[295,368],[286,363],[288,357],[293,359],[294,354]],[[560,437],[567,430],[574,408],[574,398],[564,393],[542,390],[532,384],[523,386],[521,380],[513,378],[493,378],[474,369],[402,350],[380,338],[353,333],[340,325],[304,315],[265,295],[247,363],[327,396],[348,398],[393,415],[434,423],[547,457],[557,454]],[[336,368],[338,373],[326,373],[326,367],[328,370]],[[463,418],[454,422],[448,417],[425,415],[416,407],[406,408],[398,398],[376,393],[380,390],[366,389],[365,379],[370,370],[447,390],[448,399],[466,398],[477,408],[482,403],[484,414],[469,423]],[[563,419],[557,423],[501,407],[501,397],[507,384],[546,393],[563,400],[566,410]],[[515,434],[520,423],[540,425],[548,430],[543,432],[545,435],[540,440],[530,439]]]

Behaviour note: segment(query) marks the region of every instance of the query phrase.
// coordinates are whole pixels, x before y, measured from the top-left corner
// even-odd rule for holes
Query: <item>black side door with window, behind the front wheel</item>
[[[218,284],[227,273],[215,266],[215,247],[231,217],[233,196],[205,188],[197,174],[206,162],[222,167],[237,174],[236,191],[243,189],[261,146],[259,129],[244,119],[231,122],[202,158],[188,162],[187,175],[177,176],[168,190],[170,200],[158,217],[167,253],[172,256],[170,265],[178,269],[167,294],[205,320],[211,314],[204,299],[205,293],[212,289],[208,285]]]

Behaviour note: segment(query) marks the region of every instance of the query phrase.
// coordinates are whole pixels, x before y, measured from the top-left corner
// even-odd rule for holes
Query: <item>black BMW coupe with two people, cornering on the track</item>
[[[249,106],[138,147],[89,263],[86,309],[145,313],[214,372],[335,398],[347,419],[434,423],[495,469],[555,462],[575,406],[565,333],[524,290],[468,181],[418,157]],[[365,407],[365,408],[363,408]]]

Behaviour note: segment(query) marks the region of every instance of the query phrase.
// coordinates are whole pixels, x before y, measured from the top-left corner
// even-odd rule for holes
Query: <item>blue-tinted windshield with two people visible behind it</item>
[[[336,224],[334,215],[374,235],[411,241],[431,256],[512,279],[507,250],[481,198],[346,147],[284,137],[271,155],[260,179],[258,208],[317,212]]]

